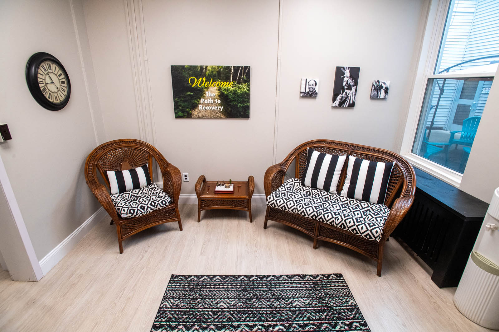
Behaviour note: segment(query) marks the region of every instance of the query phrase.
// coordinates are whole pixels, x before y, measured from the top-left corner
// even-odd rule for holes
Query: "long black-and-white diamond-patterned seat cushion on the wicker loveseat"
[[[303,186],[292,178],[267,197],[271,208],[325,222],[369,240],[379,241],[390,209],[325,190]]]

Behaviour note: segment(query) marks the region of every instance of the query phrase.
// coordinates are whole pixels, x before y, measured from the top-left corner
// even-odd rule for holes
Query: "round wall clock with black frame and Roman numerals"
[[[67,105],[71,84],[64,66],[54,56],[38,52],[26,64],[26,83],[34,100],[50,111]]]

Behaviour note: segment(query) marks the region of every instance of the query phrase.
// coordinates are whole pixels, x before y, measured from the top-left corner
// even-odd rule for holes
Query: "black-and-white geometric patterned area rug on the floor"
[[[340,273],[172,275],[151,331],[370,331]]]

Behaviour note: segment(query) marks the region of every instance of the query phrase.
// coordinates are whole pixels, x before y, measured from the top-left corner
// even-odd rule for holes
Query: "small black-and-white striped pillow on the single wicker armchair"
[[[151,177],[147,164],[125,171],[107,171],[111,194],[121,194],[132,189],[149,186]]]

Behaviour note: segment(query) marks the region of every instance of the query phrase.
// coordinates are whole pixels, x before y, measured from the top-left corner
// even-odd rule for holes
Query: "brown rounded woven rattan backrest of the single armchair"
[[[152,145],[136,139],[118,139],[96,147],[87,157],[85,179],[99,183],[97,173],[109,188],[106,171],[132,169],[148,164],[151,180],[154,179],[153,159],[162,165],[168,162]]]

